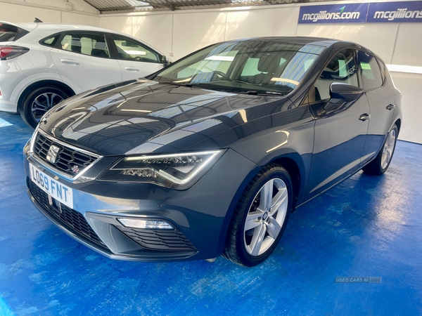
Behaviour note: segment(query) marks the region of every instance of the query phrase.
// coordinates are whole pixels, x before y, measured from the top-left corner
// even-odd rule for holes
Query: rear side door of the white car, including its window
[[[110,58],[105,35],[99,32],[66,32],[59,48],[50,51],[63,82],[71,81],[80,91],[122,81],[117,60]]]

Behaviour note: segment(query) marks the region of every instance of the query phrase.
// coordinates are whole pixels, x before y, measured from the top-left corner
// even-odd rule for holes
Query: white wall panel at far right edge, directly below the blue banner
[[[392,64],[422,66],[422,23],[400,24]]]

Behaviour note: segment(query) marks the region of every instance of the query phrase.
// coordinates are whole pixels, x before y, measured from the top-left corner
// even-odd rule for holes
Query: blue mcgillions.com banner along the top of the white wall
[[[301,6],[299,24],[422,22],[422,1]]]

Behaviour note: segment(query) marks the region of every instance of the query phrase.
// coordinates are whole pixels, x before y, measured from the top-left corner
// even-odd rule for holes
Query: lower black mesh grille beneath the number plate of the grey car
[[[32,183],[32,181],[30,181],[30,192],[34,199],[41,204],[44,211],[48,211],[52,216],[58,219],[66,229],[71,232],[75,232],[77,235],[85,237],[91,242],[107,249],[106,244],[104,244],[98,235],[96,235],[96,232],[94,232],[81,213],[75,211],[74,209],[70,209],[70,207],[65,206],[64,204],[60,204],[60,209],[56,206],[50,205],[49,197],[46,192],[37,187],[37,185]],[[57,204],[59,203],[58,201],[55,202]]]

